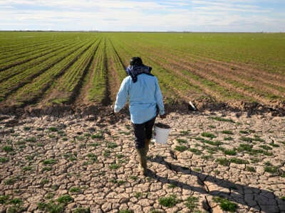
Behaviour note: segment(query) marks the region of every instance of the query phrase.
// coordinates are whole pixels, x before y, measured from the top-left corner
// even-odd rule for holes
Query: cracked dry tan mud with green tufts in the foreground
[[[172,112],[168,144],[150,145],[148,177],[128,117],[0,120],[0,212],[222,212],[217,197],[235,212],[285,212],[284,117]]]

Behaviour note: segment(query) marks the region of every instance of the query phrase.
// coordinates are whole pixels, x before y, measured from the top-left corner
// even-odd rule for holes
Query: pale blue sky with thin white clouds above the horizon
[[[285,32],[285,0],[0,0],[0,31]]]

